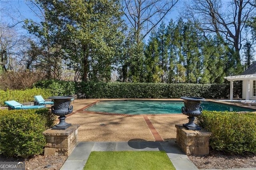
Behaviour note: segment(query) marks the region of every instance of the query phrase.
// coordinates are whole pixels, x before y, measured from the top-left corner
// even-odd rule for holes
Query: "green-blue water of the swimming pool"
[[[183,101],[142,101],[142,100],[120,100],[100,101],[84,111],[119,113],[119,114],[174,114],[181,113]],[[207,111],[254,111],[243,107],[203,101],[203,110]]]

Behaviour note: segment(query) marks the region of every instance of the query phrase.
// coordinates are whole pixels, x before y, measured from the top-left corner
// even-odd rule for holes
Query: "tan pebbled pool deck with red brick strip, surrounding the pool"
[[[66,118],[67,123],[79,124],[79,142],[104,142],[104,141],[169,141],[176,138],[175,124],[187,123],[188,119],[183,114],[170,115],[134,115],[122,116],[117,114],[104,115],[83,111],[88,106],[106,100],[124,99],[76,99],[73,105],[73,113]],[[139,99],[150,100],[150,99]],[[151,99],[152,100],[152,99]],[[182,99],[153,99],[177,101]],[[255,106],[242,103],[230,103],[208,99],[218,103],[242,106],[256,109]]]

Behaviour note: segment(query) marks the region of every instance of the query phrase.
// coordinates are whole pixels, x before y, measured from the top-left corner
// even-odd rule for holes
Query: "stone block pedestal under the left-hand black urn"
[[[72,124],[66,130],[48,129],[43,132],[46,137],[44,155],[64,155],[69,156],[75,148],[78,139],[78,127]]]

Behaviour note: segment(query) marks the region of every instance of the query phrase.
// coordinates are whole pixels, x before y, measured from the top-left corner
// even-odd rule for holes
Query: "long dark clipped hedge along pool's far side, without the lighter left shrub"
[[[182,96],[225,98],[225,84],[167,83],[81,83],[83,92],[91,98],[180,98]]]

